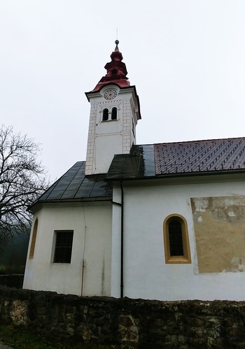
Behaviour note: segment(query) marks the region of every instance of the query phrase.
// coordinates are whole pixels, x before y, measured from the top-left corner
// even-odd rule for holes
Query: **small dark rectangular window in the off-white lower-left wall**
[[[62,230],[55,232],[54,263],[71,263],[72,242],[72,230]]]

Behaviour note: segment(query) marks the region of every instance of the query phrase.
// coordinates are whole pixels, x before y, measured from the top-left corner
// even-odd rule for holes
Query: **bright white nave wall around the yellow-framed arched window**
[[[143,183],[143,182],[141,182]],[[150,183],[150,182],[148,182]],[[124,183],[124,296],[144,299],[244,300],[245,273],[199,273],[190,197],[245,195],[244,182],[131,186]],[[113,201],[120,201],[120,187]],[[166,264],[163,221],[188,222],[191,264]],[[215,234],[215,232],[214,232]],[[120,297],[120,208],[113,206],[111,295]]]

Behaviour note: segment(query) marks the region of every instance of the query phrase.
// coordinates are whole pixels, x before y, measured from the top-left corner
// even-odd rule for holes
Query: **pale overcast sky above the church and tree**
[[[115,48],[141,103],[137,143],[245,136],[244,0],[0,0],[0,117],[51,180],[85,160],[92,90]]]

